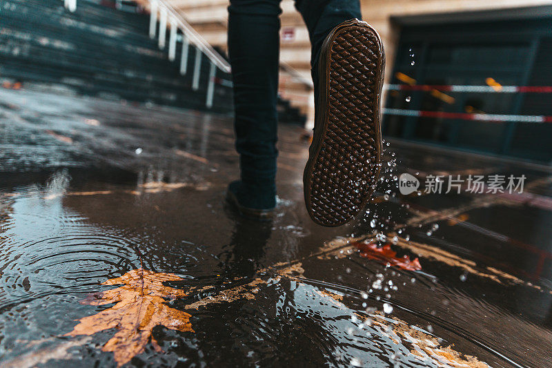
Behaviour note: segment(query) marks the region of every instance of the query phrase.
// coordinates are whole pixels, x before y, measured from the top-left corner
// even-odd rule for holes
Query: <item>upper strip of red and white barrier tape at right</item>
[[[442,92],[472,93],[552,93],[552,86],[440,86],[431,84],[386,84],[387,90],[440,90]]]

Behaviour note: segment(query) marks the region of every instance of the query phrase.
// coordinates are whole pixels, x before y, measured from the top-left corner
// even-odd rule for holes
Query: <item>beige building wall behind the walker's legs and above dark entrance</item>
[[[222,50],[226,50],[226,18],[228,0],[166,0],[172,4],[184,18],[203,37]],[[427,16],[428,14],[451,14],[454,19],[459,12],[477,12],[484,10],[506,10],[533,6],[552,5],[552,0],[360,0],[365,21],[380,33],[386,50],[386,81],[391,76],[395,60],[395,45],[400,37],[400,26],[393,21],[397,17]],[[299,107],[308,115],[307,125],[313,126],[314,99],[311,79],[311,46],[304,22],[295,10],[295,0],[282,0],[282,37],[280,61],[281,72],[279,93],[291,104]],[[307,81],[307,83],[305,83]]]

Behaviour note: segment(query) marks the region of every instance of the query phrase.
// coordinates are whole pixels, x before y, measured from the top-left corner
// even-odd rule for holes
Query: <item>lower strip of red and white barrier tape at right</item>
[[[382,113],[385,115],[442,117],[443,119],[477,120],[480,122],[552,123],[552,116],[545,115],[446,113],[444,111],[420,111],[406,110],[402,108],[384,108]]]

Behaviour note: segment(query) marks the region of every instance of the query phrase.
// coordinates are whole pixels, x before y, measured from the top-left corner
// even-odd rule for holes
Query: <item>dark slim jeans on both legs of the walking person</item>
[[[230,0],[228,54],[234,80],[236,149],[242,180],[276,175],[280,0]],[[358,0],[296,0],[311,39],[313,80],[322,42],[339,23],[361,19]]]

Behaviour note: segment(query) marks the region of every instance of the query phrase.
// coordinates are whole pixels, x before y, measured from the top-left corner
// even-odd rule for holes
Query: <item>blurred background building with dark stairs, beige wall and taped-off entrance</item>
[[[387,56],[384,135],[552,162],[552,1],[362,0]],[[0,77],[230,113],[228,0],[2,0]],[[313,126],[310,43],[282,1],[279,115]]]

